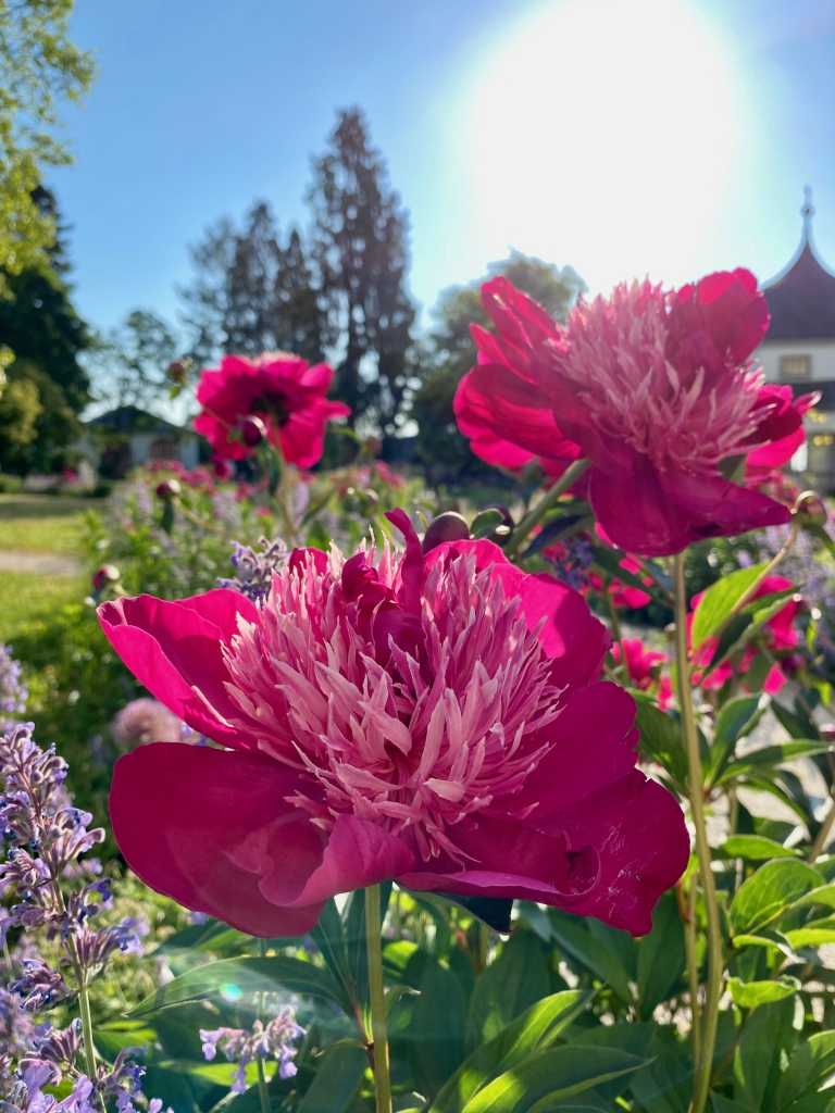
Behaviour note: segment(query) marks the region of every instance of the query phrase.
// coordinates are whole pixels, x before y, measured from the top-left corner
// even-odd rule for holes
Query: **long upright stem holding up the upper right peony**
[[[687,594],[685,591],[684,553],[676,556],[676,663],[678,666],[678,698],[681,726],[687,751],[690,815],[696,828],[696,855],[699,859],[701,892],[707,912],[707,993],[699,1025],[699,1055],[696,1060],[692,1101],[689,1113],[703,1113],[710,1089],[710,1071],[719,1022],[719,998],[723,981],[723,945],[719,906],[716,902],[714,871],[710,868],[710,846],[705,824],[705,788],[701,779],[701,756],[696,718],[692,710],[692,689],[687,652]],[[690,883],[692,884],[692,881]]]

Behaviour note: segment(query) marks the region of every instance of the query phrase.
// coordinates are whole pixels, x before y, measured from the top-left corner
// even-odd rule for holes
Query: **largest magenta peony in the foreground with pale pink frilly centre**
[[[226,590],[99,611],[128,667],[225,750],[116,766],[114,831],[153,888],[255,935],[336,893],[523,897],[642,935],[687,864],[680,808],[635,768],[635,703],[598,680],[581,595],[489,541],[375,563],[296,550],[261,608]]]

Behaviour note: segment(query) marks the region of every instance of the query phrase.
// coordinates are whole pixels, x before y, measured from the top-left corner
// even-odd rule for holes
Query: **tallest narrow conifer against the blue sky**
[[[407,215],[358,109],[340,114],[314,162],[310,200],[330,339],[342,353],[334,395],[351,406],[352,424],[391,436],[405,421],[411,374]]]

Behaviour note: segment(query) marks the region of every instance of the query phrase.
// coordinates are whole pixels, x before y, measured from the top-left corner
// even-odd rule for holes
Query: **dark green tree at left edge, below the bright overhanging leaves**
[[[78,358],[90,337],[70,302],[65,229],[49,190],[38,187],[33,197],[56,238],[38,266],[0,272],[7,292],[0,298],[0,336],[14,354],[0,398],[0,470],[17,473],[68,463],[67,450],[81,429],[78,414],[90,401]]]

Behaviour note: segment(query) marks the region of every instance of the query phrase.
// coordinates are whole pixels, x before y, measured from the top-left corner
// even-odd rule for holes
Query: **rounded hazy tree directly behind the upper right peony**
[[[466,286],[451,286],[441,294],[432,314],[435,328],[419,354],[423,382],[410,414],[420,430],[418,452],[439,479],[462,473],[495,474],[470,451],[469,441],[455,424],[452,402],[462,376],[475,364],[470,325],[474,322],[492,328],[479,292],[482,283],[497,275],[508,277],[557,321],[566,319],[578,294],[586,289],[586,283],[572,267],[558,267],[514,250],[507,259],[491,263],[484,278]]]

